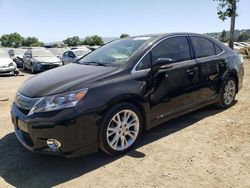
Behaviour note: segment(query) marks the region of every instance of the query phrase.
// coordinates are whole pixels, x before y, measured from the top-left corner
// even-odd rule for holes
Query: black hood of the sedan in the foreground
[[[88,81],[99,80],[117,67],[68,64],[26,80],[19,92],[27,97],[41,97],[84,88]]]

